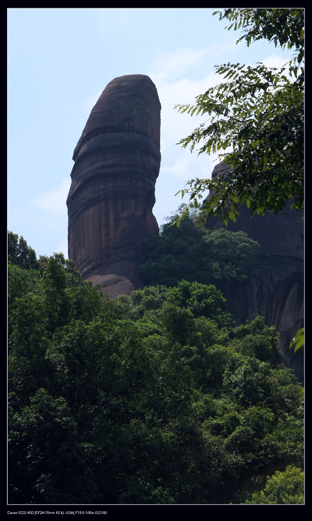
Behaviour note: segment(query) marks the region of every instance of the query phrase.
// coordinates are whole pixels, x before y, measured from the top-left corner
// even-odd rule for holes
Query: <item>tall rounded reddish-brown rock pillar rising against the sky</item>
[[[153,215],[160,167],[160,110],[143,74],[108,83],[73,152],[67,198],[69,258],[110,298],[143,286],[142,243],[159,233]]]

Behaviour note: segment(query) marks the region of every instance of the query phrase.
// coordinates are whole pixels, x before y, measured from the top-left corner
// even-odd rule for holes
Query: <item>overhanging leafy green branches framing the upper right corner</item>
[[[191,135],[180,140],[198,154],[218,154],[229,172],[214,179],[192,179],[182,190],[197,208],[236,220],[239,204],[251,215],[277,213],[287,201],[304,207],[304,9],[229,8],[216,11],[220,19],[243,32],[248,46],[265,38],[275,46],[293,49],[283,67],[216,65],[223,81],[196,97],[193,105],[176,105],[180,113],[205,116]]]

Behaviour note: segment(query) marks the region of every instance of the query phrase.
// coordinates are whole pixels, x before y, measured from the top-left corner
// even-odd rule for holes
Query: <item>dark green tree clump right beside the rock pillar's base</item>
[[[146,244],[140,267],[146,286],[177,286],[184,279],[214,284],[225,290],[229,281],[241,282],[247,278],[260,253],[258,242],[243,231],[211,231],[196,226],[198,213],[190,213],[180,226],[172,226],[176,219],[177,215],[168,218],[160,235],[153,236]]]

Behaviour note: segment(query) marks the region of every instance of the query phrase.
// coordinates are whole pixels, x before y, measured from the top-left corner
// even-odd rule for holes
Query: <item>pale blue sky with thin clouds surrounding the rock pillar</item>
[[[175,104],[193,103],[220,81],[214,65],[291,58],[266,40],[236,45],[239,32],[210,8],[9,8],[8,229],[37,256],[67,257],[66,199],[73,149],[107,83],[147,74],[162,104],[162,164],[153,213],[159,225],[194,177],[210,177],[216,156],[177,143],[198,126]],[[187,199],[185,199],[187,202]]]

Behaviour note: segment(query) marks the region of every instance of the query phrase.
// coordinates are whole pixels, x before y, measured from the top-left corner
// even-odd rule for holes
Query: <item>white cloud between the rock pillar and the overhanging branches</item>
[[[168,208],[177,209],[182,203],[175,194],[185,187],[189,179],[209,178],[214,169],[213,158],[189,149],[181,149],[176,143],[187,137],[205,118],[174,110],[176,104],[193,104],[196,96],[216,85],[220,78],[215,74],[214,63],[209,66],[208,49],[180,49],[174,53],[157,54],[148,69],[148,76],[157,87],[162,104],[161,153],[162,164],[156,185],[154,214],[158,222],[170,213]],[[193,76],[193,68],[197,74]],[[203,72],[203,74],[202,74]],[[192,76],[194,79],[191,79]],[[188,202],[188,197],[183,202]]]

